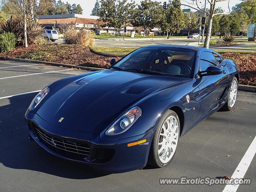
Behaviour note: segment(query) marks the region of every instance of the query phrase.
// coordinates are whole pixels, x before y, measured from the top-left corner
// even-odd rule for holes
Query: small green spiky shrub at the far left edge
[[[12,50],[17,42],[17,37],[14,33],[3,32],[0,34],[0,49],[1,52]]]

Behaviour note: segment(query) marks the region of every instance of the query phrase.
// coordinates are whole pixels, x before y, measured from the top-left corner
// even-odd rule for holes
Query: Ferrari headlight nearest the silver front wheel
[[[106,131],[106,135],[117,135],[126,132],[141,116],[142,110],[139,107],[134,107],[127,111]]]

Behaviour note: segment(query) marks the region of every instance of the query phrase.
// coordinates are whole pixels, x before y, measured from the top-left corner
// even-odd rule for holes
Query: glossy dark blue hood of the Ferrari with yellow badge
[[[181,79],[104,70],[58,89],[37,114],[54,126],[100,134],[138,100]]]

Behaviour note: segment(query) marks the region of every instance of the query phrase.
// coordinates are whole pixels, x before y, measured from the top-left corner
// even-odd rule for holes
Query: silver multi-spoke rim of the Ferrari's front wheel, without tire
[[[179,123],[175,116],[169,116],[158,138],[158,157],[162,163],[169,162],[176,151],[179,139]]]

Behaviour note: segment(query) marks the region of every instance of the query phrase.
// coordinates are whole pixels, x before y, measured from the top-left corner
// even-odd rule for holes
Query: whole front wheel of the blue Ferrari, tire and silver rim
[[[168,110],[158,123],[152,140],[148,164],[155,167],[167,166],[178,145],[180,136],[180,121],[173,110]]]

